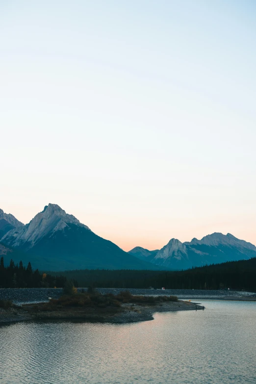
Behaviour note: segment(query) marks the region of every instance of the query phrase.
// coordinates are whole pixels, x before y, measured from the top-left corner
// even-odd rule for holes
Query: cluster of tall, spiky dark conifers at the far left
[[[10,260],[5,266],[3,257],[0,258],[0,288],[61,288],[66,281],[64,276],[40,273],[38,269],[33,271],[30,262],[25,266],[22,261],[15,264]]]

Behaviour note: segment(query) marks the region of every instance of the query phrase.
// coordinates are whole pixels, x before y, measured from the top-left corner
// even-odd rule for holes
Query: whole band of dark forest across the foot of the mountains
[[[237,289],[256,291],[256,257],[205,265],[184,271],[73,270],[39,272],[22,261],[4,266],[0,259],[0,288],[63,287],[161,288],[166,289]]]

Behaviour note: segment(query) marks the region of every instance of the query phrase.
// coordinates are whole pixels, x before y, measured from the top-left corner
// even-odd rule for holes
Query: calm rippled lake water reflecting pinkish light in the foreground
[[[256,383],[256,302],[136,324],[0,327],[0,384]]]

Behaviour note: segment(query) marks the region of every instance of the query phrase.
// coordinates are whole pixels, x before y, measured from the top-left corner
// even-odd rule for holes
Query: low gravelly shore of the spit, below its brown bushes
[[[33,305],[23,305],[9,309],[0,308],[0,325],[21,321],[69,321],[100,322],[125,324],[154,320],[155,312],[174,312],[180,310],[203,310],[204,307],[187,301],[167,302],[160,305],[123,304],[120,309],[114,308],[65,308],[55,311],[35,311]]]

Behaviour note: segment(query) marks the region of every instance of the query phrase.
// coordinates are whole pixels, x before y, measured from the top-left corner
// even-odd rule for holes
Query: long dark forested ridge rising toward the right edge
[[[239,289],[256,291],[256,257],[185,271],[74,270],[54,272],[78,287]]]

